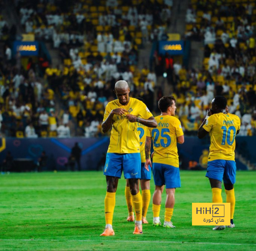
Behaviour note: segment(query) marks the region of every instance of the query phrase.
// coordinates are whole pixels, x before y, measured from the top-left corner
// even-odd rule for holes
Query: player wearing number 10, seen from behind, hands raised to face
[[[236,182],[235,137],[240,130],[238,116],[228,112],[227,100],[223,96],[216,96],[212,100],[212,109],[207,111],[204,122],[198,129],[198,138],[203,138],[210,132],[211,144],[208,156],[206,177],[212,187],[212,202],[222,203],[222,180],[226,192],[226,202],[230,203],[230,225],[233,222],[235,210],[234,184]],[[226,226],[216,226],[213,230],[222,230]]]

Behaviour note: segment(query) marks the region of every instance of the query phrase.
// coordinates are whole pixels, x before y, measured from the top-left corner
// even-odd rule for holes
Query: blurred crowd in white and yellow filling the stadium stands
[[[1,135],[100,137],[120,79],[154,115],[158,100],[174,95],[186,135],[197,133],[215,95],[240,117],[239,135],[256,135],[255,2],[185,2],[176,20],[184,6],[172,0],[2,1]],[[158,52],[177,29],[198,46],[198,61]],[[40,55],[24,58],[13,49],[22,34],[44,42]]]

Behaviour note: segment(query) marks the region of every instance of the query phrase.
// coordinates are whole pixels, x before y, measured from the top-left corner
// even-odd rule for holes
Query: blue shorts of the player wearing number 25
[[[153,163],[153,178],[156,186],[180,188],[180,168],[178,167]]]

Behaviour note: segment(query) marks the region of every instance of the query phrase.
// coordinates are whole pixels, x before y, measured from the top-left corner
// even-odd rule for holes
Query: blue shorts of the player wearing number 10
[[[234,160],[212,160],[208,161],[207,178],[219,180],[224,184],[235,184],[236,182],[236,162]]]

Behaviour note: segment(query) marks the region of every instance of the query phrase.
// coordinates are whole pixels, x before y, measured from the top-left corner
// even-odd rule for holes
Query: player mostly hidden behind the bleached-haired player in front
[[[144,103],[144,100],[141,98],[137,98],[138,100]],[[142,223],[148,224],[146,219],[148,206],[150,203],[150,180],[151,180],[151,167],[149,167],[149,171],[145,169],[145,141],[146,141],[146,126],[142,125],[141,123],[137,124],[139,136],[140,136],[140,158],[141,158],[141,178],[140,178],[140,187],[142,192]],[[126,180],[126,187],[125,187],[125,198],[126,204],[128,208],[128,217],[127,221],[133,222],[134,221],[134,212],[132,206],[132,194],[130,192],[129,181]]]

